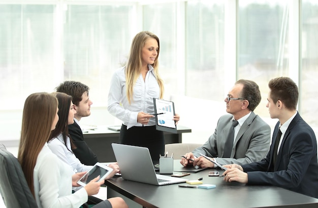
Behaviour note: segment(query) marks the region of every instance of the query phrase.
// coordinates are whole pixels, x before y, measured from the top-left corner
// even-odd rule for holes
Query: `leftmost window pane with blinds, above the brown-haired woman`
[[[0,4],[0,109],[22,109],[34,92],[52,91],[54,6]]]

